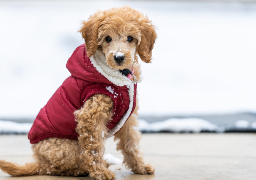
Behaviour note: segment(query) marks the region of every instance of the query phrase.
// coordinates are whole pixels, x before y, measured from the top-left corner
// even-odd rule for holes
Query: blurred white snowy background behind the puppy
[[[77,32],[81,21],[97,9],[126,4],[147,14],[158,33],[153,62],[141,63],[141,119],[196,117],[207,120],[197,119],[197,127],[213,123],[205,125],[209,131],[256,130],[253,1],[0,0],[0,120],[32,122],[70,76],[66,61],[84,43]],[[146,121],[141,124],[149,127]],[[180,131],[191,131],[180,122]]]

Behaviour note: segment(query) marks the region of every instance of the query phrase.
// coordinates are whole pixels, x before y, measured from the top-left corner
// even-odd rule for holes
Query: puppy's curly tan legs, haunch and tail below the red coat
[[[36,163],[19,166],[0,160],[0,168],[12,176],[62,175],[85,176],[90,174],[96,180],[115,179],[115,173],[107,169],[103,159],[107,123],[111,120],[113,102],[105,95],[94,95],[75,112],[78,140],[47,138],[32,145]],[[116,133],[117,150],[124,154],[124,163],[137,174],[153,174],[155,168],[145,164],[139,151],[140,132],[136,119],[138,106],[121,130]]]

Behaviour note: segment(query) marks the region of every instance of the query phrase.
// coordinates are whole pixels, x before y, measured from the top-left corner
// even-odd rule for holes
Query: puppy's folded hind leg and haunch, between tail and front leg
[[[40,175],[87,176],[81,168],[81,148],[77,140],[47,138],[32,145]]]

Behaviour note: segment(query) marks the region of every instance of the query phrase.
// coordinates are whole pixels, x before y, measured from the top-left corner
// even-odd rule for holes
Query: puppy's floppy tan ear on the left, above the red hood
[[[95,15],[91,16],[88,21],[83,21],[83,25],[79,32],[85,40],[85,47],[87,50],[87,56],[91,57],[96,53],[98,49],[98,29],[100,28],[100,23],[102,21],[102,12],[97,12]]]

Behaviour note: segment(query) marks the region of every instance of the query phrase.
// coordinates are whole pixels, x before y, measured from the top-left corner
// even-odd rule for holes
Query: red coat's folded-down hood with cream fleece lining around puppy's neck
[[[72,76],[85,81],[107,83],[120,88],[129,88],[133,82],[119,70],[109,67],[105,54],[97,50],[90,58],[87,56],[85,44],[80,45],[68,59],[66,68]]]

